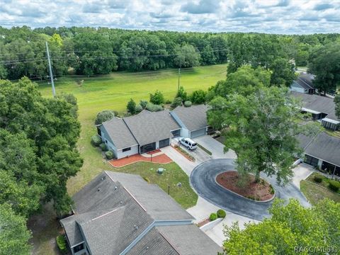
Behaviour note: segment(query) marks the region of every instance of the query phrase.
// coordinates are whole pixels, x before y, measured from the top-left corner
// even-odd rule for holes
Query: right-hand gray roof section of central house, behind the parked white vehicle
[[[207,111],[208,106],[201,104],[191,107],[178,106],[173,112],[179,117],[188,130],[194,131],[208,126]]]

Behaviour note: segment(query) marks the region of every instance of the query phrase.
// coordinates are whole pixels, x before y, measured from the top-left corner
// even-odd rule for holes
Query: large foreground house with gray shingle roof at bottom
[[[221,248],[157,185],[104,171],[73,196],[60,220],[72,254],[217,254]]]

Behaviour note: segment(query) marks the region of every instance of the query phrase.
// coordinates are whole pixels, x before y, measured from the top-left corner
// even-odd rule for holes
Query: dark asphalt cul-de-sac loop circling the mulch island
[[[227,191],[215,182],[215,177],[224,171],[234,171],[233,159],[210,159],[193,169],[190,176],[191,185],[195,188],[199,196],[205,198],[220,208],[238,215],[249,217],[254,220],[263,220],[269,216],[268,208],[273,201],[255,202],[235,195]],[[288,200],[296,198],[304,206],[310,206],[305,196],[292,183],[286,186],[278,186],[275,178],[262,176],[276,191],[276,198]]]

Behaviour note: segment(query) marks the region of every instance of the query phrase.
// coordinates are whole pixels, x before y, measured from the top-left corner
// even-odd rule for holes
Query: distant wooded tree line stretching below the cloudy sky
[[[178,33],[110,28],[0,27],[0,78],[47,79],[45,41],[53,72],[84,75],[115,70],[156,70],[229,62],[270,68],[278,58],[310,62],[312,52],[339,41],[338,34],[266,35],[258,33]]]

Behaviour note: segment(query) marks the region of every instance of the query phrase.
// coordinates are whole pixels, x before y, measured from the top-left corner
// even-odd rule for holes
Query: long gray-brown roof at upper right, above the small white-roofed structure
[[[319,96],[312,94],[304,94],[295,91],[291,91],[290,94],[295,98],[302,100],[302,107],[317,111],[319,113],[327,113],[327,118],[332,120],[339,120],[335,115],[335,103],[333,98],[327,96]]]

